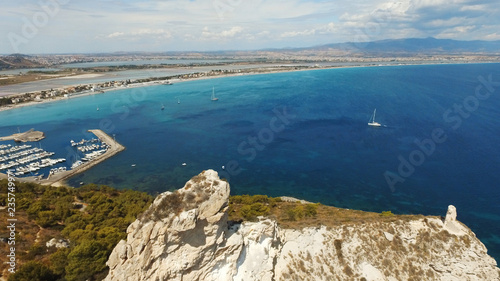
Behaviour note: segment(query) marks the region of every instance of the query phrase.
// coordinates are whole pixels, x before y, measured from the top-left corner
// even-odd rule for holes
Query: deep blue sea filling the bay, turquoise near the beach
[[[487,85],[488,80],[494,83]],[[500,84],[495,81],[500,82],[499,64],[188,81],[0,112],[0,135],[18,127],[44,131],[42,147],[70,162],[69,140],[89,138],[87,129],[101,128],[127,147],[75,176],[74,186],[83,181],[155,194],[180,188],[212,168],[230,179],[233,194],[443,216],[453,204],[458,219],[500,260]],[[210,100],[212,87],[219,101]],[[383,127],[367,126],[375,108]],[[398,172],[402,162],[409,164]],[[404,180],[394,192],[387,171],[392,180],[394,175]]]

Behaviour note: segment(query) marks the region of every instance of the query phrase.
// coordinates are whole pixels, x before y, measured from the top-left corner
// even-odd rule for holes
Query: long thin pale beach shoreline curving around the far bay
[[[325,70],[325,69],[337,69],[337,68],[360,68],[360,67],[388,67],[388,66],[415,66],[415,65],[450,65],[450,64],[489,64],[489,63],[499,63],[499,62],[447,62],[447,61],[437,61],[435,63],[430,63],[430,62],[424,62],[424,63],[415,63],[415,62],[409,62],[409,63],[388,63],[388,62],[373,62],[370,64],[366,65],[338,65],[338,66],[312,66],[312,67],[307,67],[307,68],[301,68],[301,69],[280,69],[284,67],[304,67],[304,66],[285,66],[285,65],[276,65],[276,69],[272,69],[269,67],[263,67],[262,72],[259,72],[259,68],[252,69],[253,71],[249,72],[233,72],[233,73],[225,73],[225,74],[220,74],[220,75],[213,75],[213,76],[201,76],[201,77],[189,77],[189,78],[172,78],[172,79],[167,79],[167,80],[153,80],[153,81],[148,81],[148,82],[139,82],[139,83],[132,83],[128,84],[127,86],[114,86],[114,87],[109,87],[109,88],[104,88],[101,91],[94,92],[91,90],[87,91],[82,91],[82,92],[77,92],[71,95],[68,95],[67,97],[64,96],[58,96],[58,97],[52,97],[52,98],[46,98],[46,99],[40,99],[40,100],[34,100],[34,101],[28,101],[28,102],[23,102],[20,104],[14,104],[14,105],[6,105],[6,106],[0,106],[0,112],[2,111],[7,111],[11,109],[17,109],[17,108],[23,108],[27,106],[33,106],[37,104],[44,104],[44,103],[50,103],[50,102],[56,102],[56,101],[61,101],[61,100],[68,100],[72,98],[78,98],[78,97],[86,97],[86,96],[91,96],[91,95],[98,95],[98,94],[103,94],[111,91],[117,91],[117,90],[124,90],[124,89],[133,89],[133,88],[140,88],[140,87],[149,87],[149,86],[155,86],[155,85],[162,85],[160,82],[164,81],[173,81],[175,83],[182,83],[182,82],[188,82],[188,81],[196,81],[196,80],[206,80],[206,79],[217,79],[217,78],[225,78],[225,77],[235,77],[235,76],[250,76],[250,75],[264,75],[264,74],[273,74],[273,73],[287,73],[287,72],[298,72],[298,71],[313,71],[313,70]],[[234,71],[244,71],[245,69],[235,69]],[[144,69],[144,71],[147,71]],[[199,72],[197,72],[199,73]],[[207,72],[205,72],[207,73]],[[192,75],[195,74],[193,72],[191,73],[185,73],[185,74],[179,74],[176,76],[186,76],[186,75]],[[83,74],[85,78],[87,78],[87,75],[91,76],[100,76],[101,74]],[[149,77],[148,79],[157,79],[159,77]],[[54,79],[60,79],[59,78],[54,78]],[[30,82],[28,82],[30,83]],[[94,84],[94,83],[90,83]],[[73,88],[77,84],[74,85],[68,85],[62,88],[57,88],[57,90],[64,90],[68,88]],[[82,84],[78,84],[82,85]],[[83,85],[89,85],[83,84]],[[41,92],[41,91],[47,91],[47,89],[39,89],[34,92]],[[16,97],[16,96],[22,96],[26,95],[32,92],[26,92],[26,93],[17,93],[17,94],[11,94],[11,95],[6,95],[3,96],[2,98],[9,98],[9,97]]]

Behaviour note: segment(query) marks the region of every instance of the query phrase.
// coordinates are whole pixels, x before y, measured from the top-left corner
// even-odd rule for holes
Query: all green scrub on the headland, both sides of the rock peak
[[[7,205],[7,194],[7,181],[0,181],[2,207]],[[15,198],[17,264],[16,273],[8,276],[9,281],[103,279],[111,251],[120,240],[126,239],[127,227],[153,200],[146,193],[94,184],[74,189],[32,183],[16,183]],[[178,212],[176,206],[185,203],[183,200],[193,204],[202,200],[175,198],[165,200],[166,205],[161,208]],[[229,220],[234,222],[256,221],[259,216],[266,216],[284,228],[296,229],[414,218],[393,215],[390,211],[370,213],[319,203],[284,201],[266,195],[231,196],[228,213]],[[7,210],[4,210],[0,212],[0,238],[4,241],[0,244],[0,273],[4,276],[9,251],[5,243],[9,237],[6,224]],[[47,247],[46,243],[53,238],[66,241],[67,247]]]

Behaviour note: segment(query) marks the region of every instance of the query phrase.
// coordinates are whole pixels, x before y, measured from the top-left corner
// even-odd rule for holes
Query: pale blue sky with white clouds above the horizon
[[[0,34],[1,54],[500,40],[500,1],[2,0]]]

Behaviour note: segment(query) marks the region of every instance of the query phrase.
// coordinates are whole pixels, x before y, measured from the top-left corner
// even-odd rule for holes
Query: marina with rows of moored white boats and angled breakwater
[[[89,130],[89,132],[97,138],[83,139],[80,142],[70,141],[77,160],[74,163],[66,163],[66,166],[59,165],[67,162],[65,158],[50,158],[54,156],[54,152],[28,144],[2,144],[0,145],[0,171],[7,173],[9,170],[21,181],[62,185],[66,179],[90,169],[125,149],[101,130]],[[46,171],[47,177],[44,177],[44,173],[40,174],[41,171]],[[5,178],[5,174],[2,174],[2,178]]]

